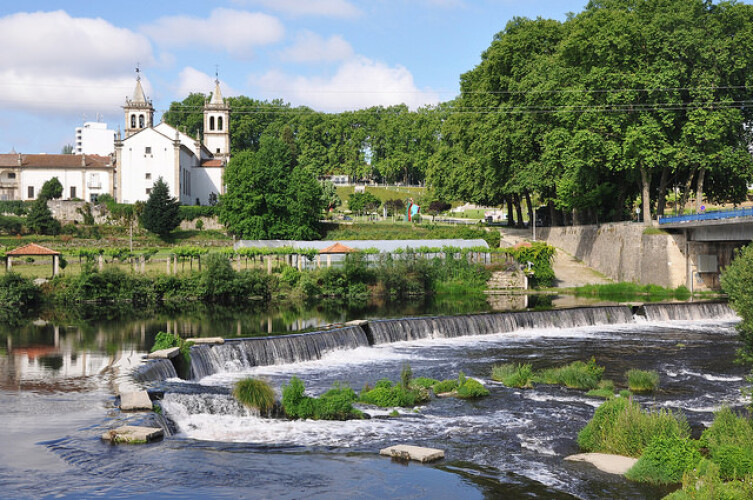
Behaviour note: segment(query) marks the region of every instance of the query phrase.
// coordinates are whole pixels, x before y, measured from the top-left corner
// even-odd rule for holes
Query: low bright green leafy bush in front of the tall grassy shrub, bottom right
[[[658,435],[625,474],[632,481],[674,484],[701,461],[698,442],[676,435]]]

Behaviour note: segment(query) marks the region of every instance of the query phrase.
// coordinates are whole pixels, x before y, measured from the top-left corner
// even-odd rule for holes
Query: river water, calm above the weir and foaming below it
[[[159,330],[246,337],[351,319],[350,313],[321,311],[235,313],[224,320],[206,314],[100,319],[85,327],[38,321],[6,332],[0,350],[0,496],[661,498],[668,489],[563,461],[578,451],[577,433],[599,400],[559,387],[506,388],[490,380],[492,365],[529,362],[539,369],[594,357],[618,385],[629,368],[655,369],[661,390],[637,399],[683,411],[695,433],[720,405],[746,404],[740,392],[745,371],[734,364],[736,319],[729,314],[694,321],[654,314],[567,327],[557,326],[560,318],[504,333],[434,334],[333,349],[297,363],[249,366],[228,358],[196,380],[149,384],[164,392],[161,405],[173,435],[145,446],[102,442],[107,429],[138,422],[116,408],[114,386]],[[434,399],[400,409],[397,417],[363,408],[372,419],[348,422],[261,419],[229,396],[232,384],[246,376],[269,380],[278,393],[293,375],[312,395],[336,382],[360,390],[383,377],[398,380],[406,363],[415,376],[445,379],[463,371],[491,395]],[[377,455],[396,443],[441,448],[447,458],[403,465]]]

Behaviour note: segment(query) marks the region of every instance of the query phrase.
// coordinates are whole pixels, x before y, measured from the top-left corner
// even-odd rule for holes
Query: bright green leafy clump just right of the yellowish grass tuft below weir
[[[306,388],[298,377],[282,386],[282,407],[290,418],[312,420],[348,420],[363,418],[353,408],[356,394],[349,387],[335,386],[318,398],[306,396]]]

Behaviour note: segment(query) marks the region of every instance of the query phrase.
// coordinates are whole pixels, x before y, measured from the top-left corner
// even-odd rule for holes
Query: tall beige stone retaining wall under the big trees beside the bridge
[[[644,234],[644,230],[640,224],[615,223],[543,227],[538,235],[615,281],[686,285],[684,235]]]

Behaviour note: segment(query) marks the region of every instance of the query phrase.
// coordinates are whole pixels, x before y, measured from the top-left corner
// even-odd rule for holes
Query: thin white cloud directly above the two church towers
[[[276,17],[223,8],[214,9],[206,19],[163,17],[142,30],[165,47],[204,47],[242,58],[250,57],[254,47],[278,42],[285,34]]]

